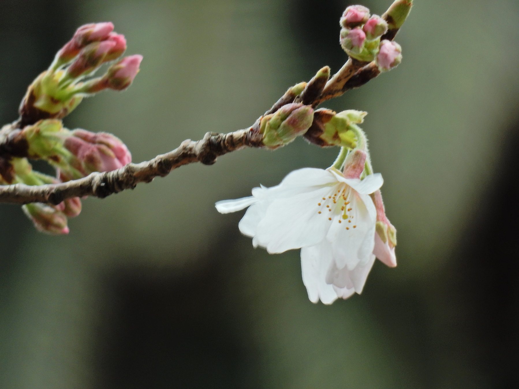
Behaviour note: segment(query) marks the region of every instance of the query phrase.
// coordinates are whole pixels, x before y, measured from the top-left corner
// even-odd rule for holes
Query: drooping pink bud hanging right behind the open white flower
[[[394,253],[394,248],[397,245],[397,230],[386,216],[380,190],[375,191],[370,196],[377,210],[375,248],[373,249],[373,254],[375,254],[380,261],[385,263],[385,265],[394,268],[397,266],[397,257]]]

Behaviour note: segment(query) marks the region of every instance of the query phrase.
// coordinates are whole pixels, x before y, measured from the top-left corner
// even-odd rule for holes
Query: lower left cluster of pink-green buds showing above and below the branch
[[[106,172],[122,168],[131,162],[128,148],[116,136],[109,133],[93,133],[86,130],[70,131],[61,120],[40,120],[26,126],[17,134],[28,146],[31,159],[43,159],[54,166],[56,177],[32,170],[26,158],[13,158],[13,182],[26,185],[44,185],[66,182],[85,177],[92,172]],[[66,199],[58,205],[27,204],[26,215],[35,227],[52,234],[68,233],[67,217],[81,212],[79,198]]]

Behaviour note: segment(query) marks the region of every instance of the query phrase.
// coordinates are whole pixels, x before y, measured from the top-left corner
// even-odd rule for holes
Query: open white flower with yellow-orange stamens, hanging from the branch
[[[269,253],[302,248],[303,282],[311,301],[331,303],[360,293],[374,262],[377,211],[370,194],[380,174],[345,178],[336,169],[299,169],[272,188],[216,203],[221,213],[249,207],[239,223]]]

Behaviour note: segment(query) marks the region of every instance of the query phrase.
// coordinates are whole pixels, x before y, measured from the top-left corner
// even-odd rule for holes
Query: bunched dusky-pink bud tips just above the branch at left
[[[64,145],[85,174],[116,170],[131,162],[126,145],[112,134],[74,130],[72,136],[65,139]]]

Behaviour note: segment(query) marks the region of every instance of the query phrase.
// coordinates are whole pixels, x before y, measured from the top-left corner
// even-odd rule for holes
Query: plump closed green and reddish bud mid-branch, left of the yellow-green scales
[[[264,116],[260,121],[263,144],[271,149],[292,142],[312,124],[313,109],[309,105],[291,103],[283,105],[276,113]]]

